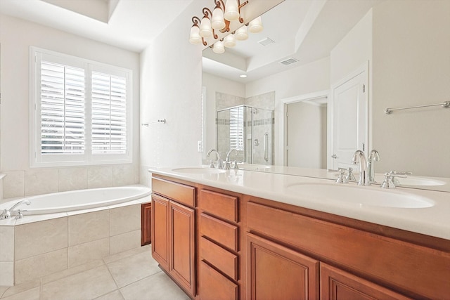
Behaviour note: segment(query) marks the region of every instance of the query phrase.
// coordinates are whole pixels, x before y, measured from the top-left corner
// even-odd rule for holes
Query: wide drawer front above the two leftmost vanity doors
[[[181,183],[174,183],[160,178],[152,178],[153,193],[158,193],[176,202],[195,206],[195,188]]]

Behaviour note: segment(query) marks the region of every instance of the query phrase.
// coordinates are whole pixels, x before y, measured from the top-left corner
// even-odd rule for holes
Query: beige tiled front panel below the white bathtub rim
[[[141,200],[2,221],[0,285],[18,285],[141,246]],[[58,215],[57,218],[52,218]],[[37,221],[37,219],[45,219]],[[14,226],[15,225],[15,226]],[[11,245],[13,245],[11,249]]]

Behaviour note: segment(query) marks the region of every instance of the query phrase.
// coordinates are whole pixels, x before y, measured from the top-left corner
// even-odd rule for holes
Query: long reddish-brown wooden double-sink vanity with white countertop
[[[192,299],[449,297],[449,193],[201,167],[150,172],[153,257]],[[333,197],[308,193],[317,186],[334,187]],[[373,202],[383,195],[392,203]]]

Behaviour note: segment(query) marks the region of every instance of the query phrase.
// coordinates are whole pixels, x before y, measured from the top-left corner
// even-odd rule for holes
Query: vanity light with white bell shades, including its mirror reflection
[[[248,1],[240,4],[240,0],[227,0],[226,6],[223,0],[214,0],[216,4],[211,12],[210,8],[204,7],[202,10],[203,18],[194,16],[192,18],[193,25],[191,27],[191,35],[189,41],[191,44],[203,44],[207,46],[205,39],[213,38],[217,40],[212,44],[214,53],[224,53],[225,47],[231,48],[236,46],[236,40],[243,41],[248,39],[248,32],[257,33],[263,30],[261,17],[255,18],[247,24],[231,32],[226,37],[219,39],[217,31],[221,34],[230,31],[231,22],[239,22],[244,24],[244,19],[240,15],[240,8],[248,4]]]

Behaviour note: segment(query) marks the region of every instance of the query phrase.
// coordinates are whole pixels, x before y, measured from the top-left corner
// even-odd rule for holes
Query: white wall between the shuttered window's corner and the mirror
[[[141,122],[167,120],[141,129],[141,183],[149,167],[201,162],[202,46],[189,44],[188,35],[203,6],[194,4],[141,53]]]

